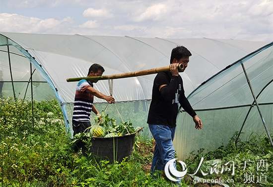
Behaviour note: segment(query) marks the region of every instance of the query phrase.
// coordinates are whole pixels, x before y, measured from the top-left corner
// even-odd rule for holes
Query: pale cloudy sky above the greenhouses
[[[273,41],[273,0],[0,0],[0,31]]]

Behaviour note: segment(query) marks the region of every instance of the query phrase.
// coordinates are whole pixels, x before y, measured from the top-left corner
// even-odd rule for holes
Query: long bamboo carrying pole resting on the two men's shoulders
[[[106,75],[106,76],[97,76],[97,77],[68,78],[67,82],[75,82],[75,81],[80,81],[82,79],[85,79],[85,80],[121,79],[121,78],[137,77],[137,76],[150,75],[150,74],[156,74],[156,73],[159,73],[159,72],[169,72],[169,71],[170,71],[170,67],[165,66],[165,67],[161,67],[161,68],[154,68],[154,69],[150,69],[150,70],[142,70],[142,71],[137,71],[137,72],[116,74],[116,75]],[[179,64],[178,71],[179,72],[184,72],[183,64]]]

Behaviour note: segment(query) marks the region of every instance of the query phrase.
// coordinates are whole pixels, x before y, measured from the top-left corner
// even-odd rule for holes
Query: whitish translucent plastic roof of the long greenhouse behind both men
[[[113,75],[169,65],[171,50],[184,45],[193,54],[187,71],[181,76],[186,94],[227,65],[265,45],[264,42],[212,39],[160,39],[115,36],[46,35],[2,33],[35,57],[52,78],[63,100],[73,102],[77,83],[67,78],[86,77],[88,68],[99,63],[104,75]],[[151,98],[154,75],[114,81],[117,101]],[[125,87],[126,85],[126,87]],[[108,82],[96,88],[109,93]],[[96,98],[95,102],[105,102]]]

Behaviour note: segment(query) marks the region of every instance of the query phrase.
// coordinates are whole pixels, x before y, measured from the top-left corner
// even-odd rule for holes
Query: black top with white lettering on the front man
[[[160,85],[168,85],[166,88],[161,88],[161,91],[163,88],[167,89],[164,90],[164,97],[159,91]],[[172,76],[171,72],[158,73],[153,82],[147,123],[175,127],[179,103],[191,116],[196,115],[185,97],[181,76]]]

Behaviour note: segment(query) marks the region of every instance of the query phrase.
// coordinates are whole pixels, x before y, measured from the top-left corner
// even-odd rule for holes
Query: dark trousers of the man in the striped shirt
[[[74,131],[73,136],[75,136],[75,134],[77,133],[84,132],[85,129],[91,126],[91,123],[72,120],[72,125],[73,125],[73,131]],[[80,148],[83,147],[84,145],[85,144],[80,140],[73,145],[73,150],[75,152],[78,152]]]

